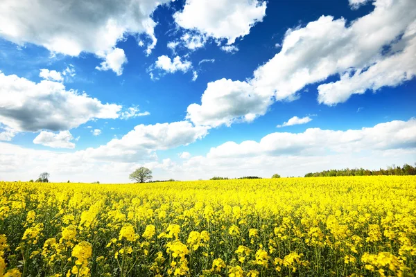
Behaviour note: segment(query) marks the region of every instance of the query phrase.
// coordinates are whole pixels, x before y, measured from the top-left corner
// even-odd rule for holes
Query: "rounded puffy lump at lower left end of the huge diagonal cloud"
[[[270,96],[254,93],[247,82],[227,79],[209,82],[201,98],[201,105],[191,104],[187,118],[196,125],[231,125],[236,121],[251,122],[266,114]]]

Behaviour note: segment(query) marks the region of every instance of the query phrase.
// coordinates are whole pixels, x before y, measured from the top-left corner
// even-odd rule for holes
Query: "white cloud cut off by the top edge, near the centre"
[[[184,9],[173,17],[182,28],[197,30],[214,39],[227,39],[227,44],[233,44],[238,37],[248,35],[250,28],[265,15],[266,1],[187,0]]]

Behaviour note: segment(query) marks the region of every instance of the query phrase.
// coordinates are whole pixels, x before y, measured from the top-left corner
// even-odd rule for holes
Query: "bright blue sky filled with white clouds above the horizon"
[[[414,0],[0,1],[0,180],[416,162]]]

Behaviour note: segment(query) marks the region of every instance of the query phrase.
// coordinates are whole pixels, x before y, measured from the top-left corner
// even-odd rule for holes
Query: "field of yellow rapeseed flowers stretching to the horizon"
[[[0,182],[0,276],[414,276],[416,177]]]

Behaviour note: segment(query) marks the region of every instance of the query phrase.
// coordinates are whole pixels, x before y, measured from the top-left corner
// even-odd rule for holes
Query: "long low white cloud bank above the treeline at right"
[[[311,128],[297,134],[276,132],[264,136],[258,143],[224,143],[217,148],[211,148],[207,157],[241,157],[254,154],[319,155],[323,152],[347,153],[407,148],[416,148],[416,118],[347,131]]]

